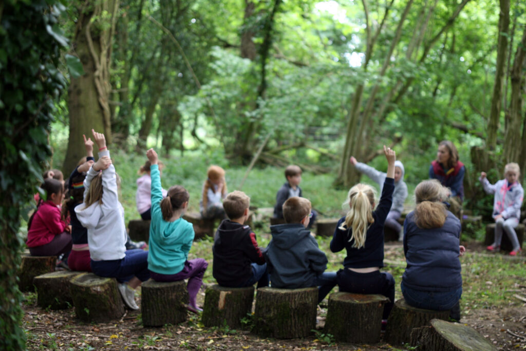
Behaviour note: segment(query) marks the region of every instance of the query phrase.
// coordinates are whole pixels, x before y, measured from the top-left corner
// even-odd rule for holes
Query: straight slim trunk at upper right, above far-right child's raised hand
[[[495,65],[495,83],[491,96],[490,121],[488,124],[488,138],[486,146],[493,151],[497,146],[497,132],[499,130],[500,111],[502,103],[502,86],[504,84],[504,68],[508,53],[508,31],[510,27],[510,0],[500,0],[499,39],[497,44],[497,64]]]

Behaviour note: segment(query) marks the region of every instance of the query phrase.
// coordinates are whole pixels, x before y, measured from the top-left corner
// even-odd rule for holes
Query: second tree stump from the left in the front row
[[[73,306],[73,299],[69,293],[69,280],[82,274],[69,270],[38,275],[33,278],[37,291],[37,304],[42,308],[66,309]]]

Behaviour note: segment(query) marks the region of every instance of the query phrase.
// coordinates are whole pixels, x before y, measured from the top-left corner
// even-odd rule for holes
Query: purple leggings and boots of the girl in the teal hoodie
[[[190,306],[197,307],[196,296],[203,282],[203,276],[205,275],[206,267],[208,263],[204,258],[194,258],[186,260],[183,270],[177,274],[160,274],[151,272],[150,277],[156,282],[178,282],[179,280],[188,279],[186,288],[188,289],[188,297],[190,300]]]

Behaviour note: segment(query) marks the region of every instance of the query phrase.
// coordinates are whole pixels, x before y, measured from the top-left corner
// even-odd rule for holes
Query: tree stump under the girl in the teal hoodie
[[[143,326],[160,327],[185,322],[188,291],[184,280],[161,283],[149,279],[141,285]]]

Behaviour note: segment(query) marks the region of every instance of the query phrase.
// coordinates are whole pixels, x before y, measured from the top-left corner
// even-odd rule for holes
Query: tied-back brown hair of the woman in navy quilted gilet
[[[414,189],[417,207],[414,209],[414,223],[419,228],[440,228],[446,222],[446,205],[442,203],[444,187],[437,179],[423,180]]]

